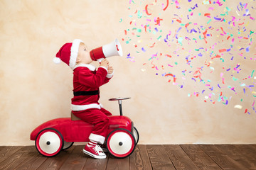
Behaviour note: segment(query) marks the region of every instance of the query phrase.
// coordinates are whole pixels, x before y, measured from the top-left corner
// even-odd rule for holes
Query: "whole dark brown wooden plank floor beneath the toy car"
[[[256,169],[256,145],[137,145],[125,159],[92,159],[83,147],[51,158],[34,146],[0,147],[0,169]]]

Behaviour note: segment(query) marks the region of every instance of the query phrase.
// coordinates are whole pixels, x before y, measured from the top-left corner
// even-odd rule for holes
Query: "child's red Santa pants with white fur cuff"
[[[107,115],[112,115],[112,113],[107,111],[105,108],[91,108],[85,111],[72,112],[76,117],[84,120],[86,123],[94,125],[89,140],[94,140],[100,144],[104,144],[109,125],[109,118]]]

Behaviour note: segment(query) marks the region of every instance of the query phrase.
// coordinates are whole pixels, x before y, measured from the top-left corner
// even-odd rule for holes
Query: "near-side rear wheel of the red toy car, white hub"
[[[41,130],[36,137],[36,149],[46,157],[54,157],[63,149],[63,136],[53,128]]]

